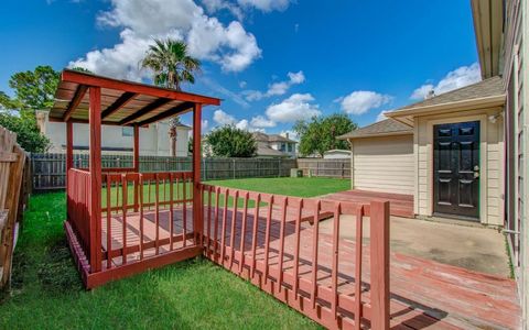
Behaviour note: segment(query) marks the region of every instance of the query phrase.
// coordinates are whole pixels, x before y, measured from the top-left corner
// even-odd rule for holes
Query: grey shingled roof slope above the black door
[[[454,89],[438,96],[434,96],[430,99],[425,99],[402,108],[400,110],[417,109],[436,105],[452,103],[457,101],[471,100],[471,99],[481,99],[493,96],[504,95],[504,81],[501,77],[495,76],[485,80],[482,80],[476,84],[472,84],[458,89]]]

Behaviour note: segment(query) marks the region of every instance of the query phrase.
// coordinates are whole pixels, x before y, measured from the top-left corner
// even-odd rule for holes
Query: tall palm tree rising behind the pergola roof
[[[153,72],[155,85],[181,90],[180,84],[195,82],[193,72],[201,69],[201,62],[187,54],[187,45],[180,41],[154,40],[154,44],[147,51],[145,58],[140,63],[142,68]],[[174,117],[169,124],[171,138],[171,155],[176,156],[176,127],[180,118]]]

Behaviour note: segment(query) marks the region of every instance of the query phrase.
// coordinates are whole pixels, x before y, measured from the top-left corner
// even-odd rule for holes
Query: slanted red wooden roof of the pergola
[[[90,86],[101,88],[101,120],[110,125],[148,125],[220,99],[65,69],[50,111],[51,121],[88,123]]]

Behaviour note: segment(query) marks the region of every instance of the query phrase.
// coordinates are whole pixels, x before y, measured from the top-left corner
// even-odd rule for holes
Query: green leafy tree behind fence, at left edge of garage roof
[[[347,141],[336,136],[356,130],[357,125],[345,113],[334,113],[327,117],[313,117],[310,121],[299,121],[294,131],[300,136],[299,152],[301,156],[323,153],[328,150],[348,150]]]

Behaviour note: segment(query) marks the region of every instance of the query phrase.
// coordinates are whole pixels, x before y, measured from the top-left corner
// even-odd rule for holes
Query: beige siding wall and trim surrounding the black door
[[[414,119],[413,150],[415,215],[433,215],[433,125],[479,121],[479,220],[484,224],[504,224],[504,121],[503,109],[485,109],[424,116]],[[494,118],[494,119],[493,119]],[[493,122],[494,121],[494,122]]]

